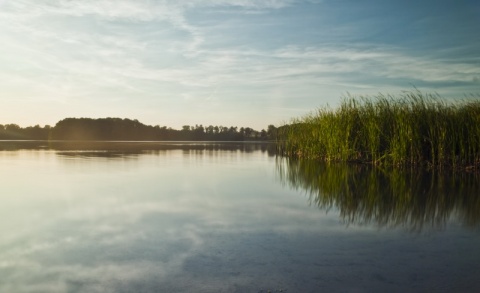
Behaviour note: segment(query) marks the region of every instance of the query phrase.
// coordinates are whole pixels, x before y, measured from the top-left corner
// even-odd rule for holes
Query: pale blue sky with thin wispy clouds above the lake
[[[414,88],[480,93],[480,1],[0,0],[0,124],[260,130]]]

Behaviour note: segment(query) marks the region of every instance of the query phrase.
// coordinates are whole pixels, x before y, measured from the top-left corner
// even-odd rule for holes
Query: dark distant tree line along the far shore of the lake
[[[184,125],[176,130],[166,126],[145,125],[121,118],[66,118],[54,127],[39,125],[21,128],[0,124],[0,139],[6,140],[123,140],[123,141],[255,141],[273,140],[276,127],[254,130],[250,127]]]

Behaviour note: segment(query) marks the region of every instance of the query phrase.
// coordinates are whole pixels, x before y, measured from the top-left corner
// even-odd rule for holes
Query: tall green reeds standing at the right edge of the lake
[[[280,127],[278,150],[290,157],[375,165],[480,167],[480,100],[438,95],[347,97]]]

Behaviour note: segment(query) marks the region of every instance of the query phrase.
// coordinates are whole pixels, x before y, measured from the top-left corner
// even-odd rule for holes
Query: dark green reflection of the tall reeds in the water
[[[441,228],[453,216],[468,227],[480,223],[478,174],[386,170],[278,158],[288,186],[304,190],[321,209],[337,208],[346,224]]]

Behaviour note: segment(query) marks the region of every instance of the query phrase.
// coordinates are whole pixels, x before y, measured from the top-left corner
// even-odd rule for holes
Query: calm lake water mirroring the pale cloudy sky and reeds
[[[480,291],[473,174],[4,142],[0,178],[0,292]]]

